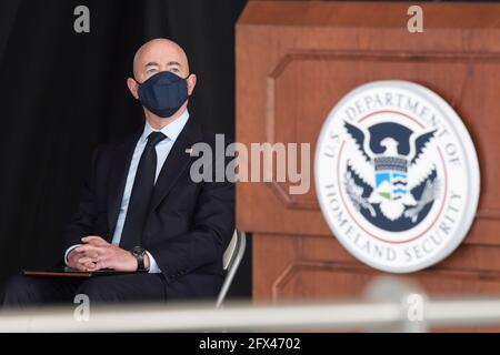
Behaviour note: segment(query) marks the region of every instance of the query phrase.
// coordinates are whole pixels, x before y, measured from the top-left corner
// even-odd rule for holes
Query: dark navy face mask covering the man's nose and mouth
[[[188,82],[170,71],[161,71],[139,84],[139,100],[160,118],[169,118],[188,100]]]

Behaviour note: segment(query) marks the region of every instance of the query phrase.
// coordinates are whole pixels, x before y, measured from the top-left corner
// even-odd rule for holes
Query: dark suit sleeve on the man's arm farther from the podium
[[[80,244],[83,236],[90,235],[93,232],[97,216],[96,164],[99,151],[100,149],[97,148],[92,154],[90,173],[88,174],[81,189],[77,212],[73,214],[64,230],[64,250],[68,250],[72,245]]]

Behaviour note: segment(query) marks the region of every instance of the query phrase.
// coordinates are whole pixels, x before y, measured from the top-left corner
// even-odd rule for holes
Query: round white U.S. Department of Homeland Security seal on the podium
[[[472,140],[429,89],[376,81],[348,93],[317,145],[316,189],[340,243],[393,273],[422,270],[463,240],[479,199]]]

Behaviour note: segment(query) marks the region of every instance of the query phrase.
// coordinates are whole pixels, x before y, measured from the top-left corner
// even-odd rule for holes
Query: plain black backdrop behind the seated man
[[[164,37],[198,75],[192,118],[231,138],[234,23],[243,0],[0,1],[0,283],[61,257],[90,154],[139,129],[126,85],[136,50]],[[77,6],[90,33],[76,33]],[[230,295],[250,296],[250,250]]]

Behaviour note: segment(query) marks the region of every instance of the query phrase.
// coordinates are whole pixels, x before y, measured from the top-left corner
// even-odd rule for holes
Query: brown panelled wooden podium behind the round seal
[[[441,263],[400,275],[431,296],[500,294],[500,4],[250,1],[237,24],[237,141],[311,143],[356,87],[420,83],[449,102],[478,151],[481,196],[463,243]],[[311,160],[311,175],[313,174]],[[238,183],[237,226],[252,233],[256,301],[358,297],[383,273],[332,236],[311,189]]]

